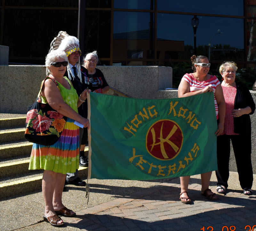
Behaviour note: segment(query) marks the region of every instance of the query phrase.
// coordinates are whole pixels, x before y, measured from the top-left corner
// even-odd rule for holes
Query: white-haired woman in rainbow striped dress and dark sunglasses
[[[79,127],[78,121],[84,127],[89,126],[88,119],[81,117],[77,108],[86,99],[86,90],[80,97],[67,77],[63,77],[68,65],[65,52],[51,51],[45,59],[46,73],[41,92],[42,103],[48,103],[60,114],[67,116],[64,130],[59,140],[50,146],[33,144],[29,169],[44,169],[42,191],[45,202],[43,218],[53,226],[62,226],[64,222],[58,214],[75,216],[76,213],[62,204],[62,190],[66,173],[75,172],[79,163]],[[61,124],[60,124],[61,126]]]

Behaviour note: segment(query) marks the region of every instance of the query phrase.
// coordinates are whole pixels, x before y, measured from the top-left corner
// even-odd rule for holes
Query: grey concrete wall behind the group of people
[[[172,68],[158,66],[98,66],[109,86],[134,98],[178,98],[172,87]],[[45,77],[43,66],[0,66],[0,113],[27,113],[27,107],[36,100],[40,84]],[[254,102],[256,92],[251,91]],[[252,167],[256,174],[256,113],[252,120]],[[231,148],[232,149],[232,148]],[[233,151],[230,171],[236,170]]]

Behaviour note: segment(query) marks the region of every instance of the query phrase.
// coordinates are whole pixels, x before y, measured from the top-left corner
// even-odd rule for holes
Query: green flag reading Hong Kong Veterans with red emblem
[[[134,99],[91,92],[88,179],[148,180],[217,169],[212,92]]]

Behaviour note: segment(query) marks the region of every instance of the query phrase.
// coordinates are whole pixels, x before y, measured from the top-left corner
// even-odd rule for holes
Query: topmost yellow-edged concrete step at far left
[[[26,115],[0,113],[0,128],[24,127],[26,126]]]

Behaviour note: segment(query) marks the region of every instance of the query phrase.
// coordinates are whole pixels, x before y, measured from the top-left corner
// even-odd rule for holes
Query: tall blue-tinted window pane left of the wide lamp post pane
[[[128,65],[143,65],[152,58],[153,13],[114,12],[113,60],[129,60]],[[134,59],[134,60],[132,60]]]

